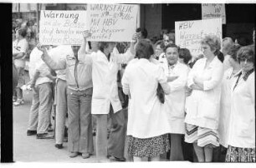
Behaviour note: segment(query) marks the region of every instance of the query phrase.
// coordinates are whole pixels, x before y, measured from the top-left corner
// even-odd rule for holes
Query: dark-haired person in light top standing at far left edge
[[[26,62],[23,59],[28,52],[28,41],[26,39],[27,31],[24,28],[16,30],[16,40],[13,42],[13,62],[18,72],[18,86],[13,92],[13,105],[19,106],[24,103],[23,91],[21,87],[25,84],[24,68]]]

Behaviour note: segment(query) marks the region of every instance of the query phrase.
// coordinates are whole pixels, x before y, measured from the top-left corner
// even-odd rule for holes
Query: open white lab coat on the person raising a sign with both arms
[[[133,57],[134,55],[131,54],[130,50],[124,54],[111,53],[110,62],[100,50],[86,56],[84,54],[79,55],[79,61],[92,65],[92,114],[108,114],[110,103],[114,113],[122,109],[117,90],[117,72],[120,63],[127,63]]]

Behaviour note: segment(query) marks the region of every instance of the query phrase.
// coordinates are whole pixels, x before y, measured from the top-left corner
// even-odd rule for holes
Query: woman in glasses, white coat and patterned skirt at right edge
[[[241,47],[237,59],[242,71],[231,90],[227,162],[255,162],[255,53]]]

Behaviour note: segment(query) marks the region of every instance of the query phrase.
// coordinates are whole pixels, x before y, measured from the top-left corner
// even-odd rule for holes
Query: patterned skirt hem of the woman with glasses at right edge
[[[255,148],[228,146],[226,162],[255,162]]]

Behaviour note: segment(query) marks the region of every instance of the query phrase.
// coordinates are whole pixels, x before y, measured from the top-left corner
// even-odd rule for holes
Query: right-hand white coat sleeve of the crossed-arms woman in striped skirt
[[[224,67],[223,63],[218,64],[213,67],[212,77],[210,80],[203,82],[203,91],[212,90],[214,87],[218,86],[223,80]]]

